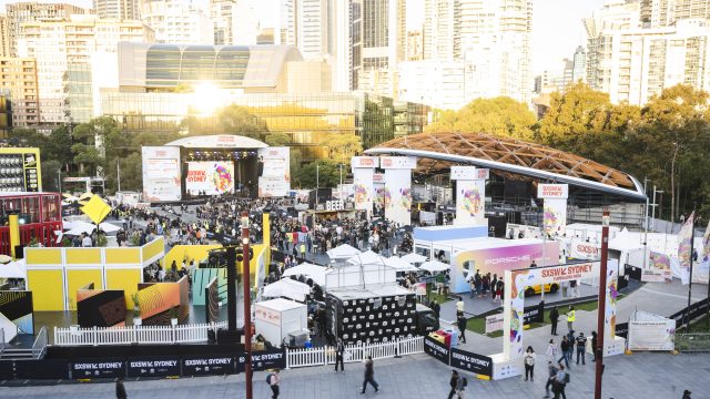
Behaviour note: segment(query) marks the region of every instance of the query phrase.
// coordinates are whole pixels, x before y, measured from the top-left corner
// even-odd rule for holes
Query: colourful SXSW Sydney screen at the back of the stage
[[[234,192],[234,163],[210,161],[187,162],[185,190],[192,195],[204,192],[206,195]]]

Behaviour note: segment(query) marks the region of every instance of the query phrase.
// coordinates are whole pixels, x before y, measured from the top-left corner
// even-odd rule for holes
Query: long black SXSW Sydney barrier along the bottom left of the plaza
[[[40,359],[0,361],[0,380],[12,379],[100,379],[138,377],[223,376],[244,371],[246,355],[145,356],[95,359]],[[283,350],[252,354],[254,371],[286,368]]]

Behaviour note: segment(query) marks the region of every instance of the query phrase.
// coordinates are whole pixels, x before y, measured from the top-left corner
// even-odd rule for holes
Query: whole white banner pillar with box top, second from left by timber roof
[[[412,170],[417,167],[414,156],[381,156],[385,170],[385,217],[406,226],[412,224]]]

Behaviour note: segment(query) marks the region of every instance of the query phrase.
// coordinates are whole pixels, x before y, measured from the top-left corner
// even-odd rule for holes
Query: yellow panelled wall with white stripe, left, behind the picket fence
[[[161,260],[163,237],[142,247],[26,248],[28,289],[36,311],[75,310],[77,289],[122,289],[131,308],[131,296],[143,283],[143,268]]]

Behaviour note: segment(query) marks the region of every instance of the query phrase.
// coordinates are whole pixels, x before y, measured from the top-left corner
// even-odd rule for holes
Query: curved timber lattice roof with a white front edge
[[[540,144],[483,133],[419,133],[365,151],[369,155],[419,157],[417,172],[438,173],[468,164],[513,177],[567,183],[635,201],[646,201],[633,176],[595,161]]]

